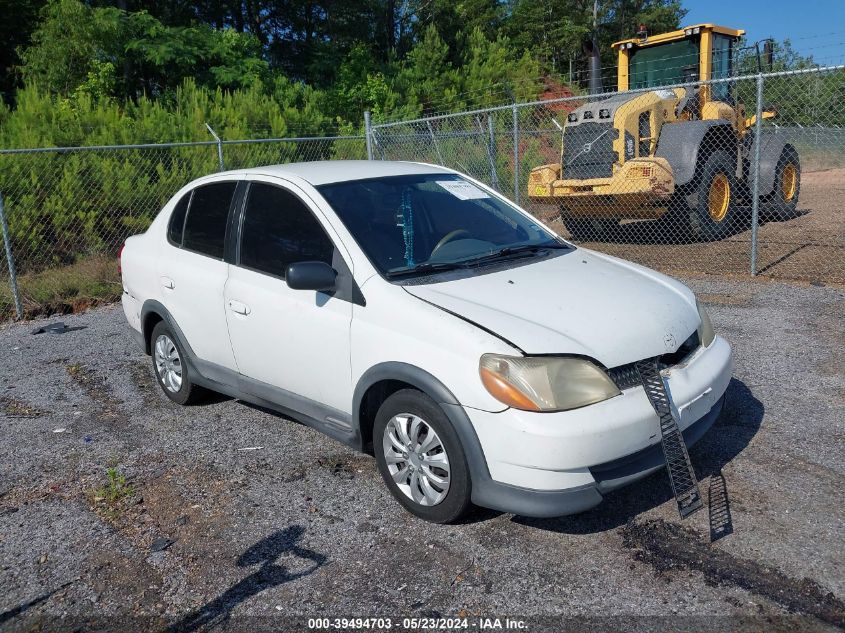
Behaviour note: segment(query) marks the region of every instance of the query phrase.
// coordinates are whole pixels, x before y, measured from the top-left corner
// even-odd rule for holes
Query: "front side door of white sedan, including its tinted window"
[[[338,244],[302,191],[250,182],[224,295],[242,389],[347,430],[352,302],[343,293],[293,290],[284,279],[288,264],[323,261],[351,280]]]

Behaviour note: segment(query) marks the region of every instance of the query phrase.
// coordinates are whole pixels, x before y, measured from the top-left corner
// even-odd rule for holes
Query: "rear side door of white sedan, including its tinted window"
[[[226,232],[237,181],[200,185],[171,213],[167,244],[158,262],[161,299],[185,342],[201,361],[200,371],[215,377],[215,366],[232,372],[223,287],[229,273]]]

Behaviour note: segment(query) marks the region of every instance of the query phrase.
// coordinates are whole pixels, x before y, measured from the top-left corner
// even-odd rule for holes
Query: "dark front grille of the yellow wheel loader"
[[[613,141],[619,136],[612,123],[581,123],[563,132],[563,178],[609,178],[619,160]],[[589,150],[587,144],[591,143]],[[586,150],[586,151],[585,151]]]

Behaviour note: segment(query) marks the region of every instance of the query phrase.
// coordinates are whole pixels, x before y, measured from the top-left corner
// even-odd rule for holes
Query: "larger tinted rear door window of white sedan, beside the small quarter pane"
[[[226,223],[236,182],[217,182],[194,189],[182,246],[191,251],[223,259]]]

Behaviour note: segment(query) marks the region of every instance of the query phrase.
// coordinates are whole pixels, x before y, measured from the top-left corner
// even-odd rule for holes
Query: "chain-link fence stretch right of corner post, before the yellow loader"
[[[460,170],[569,239],[658,270],[845,283],[843,67],[514,104],[369,133],[376,159]]]

